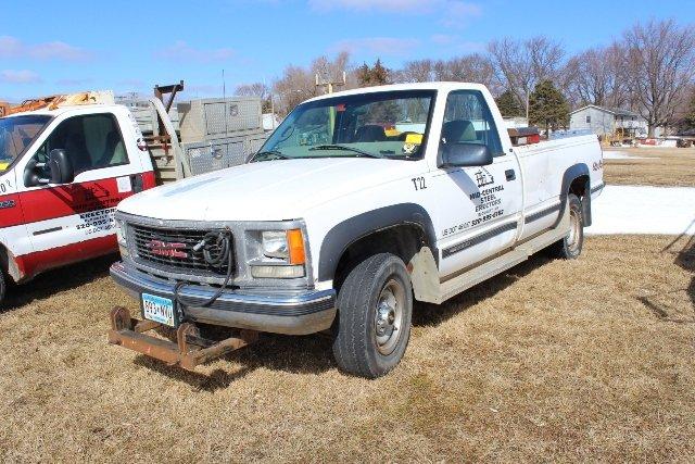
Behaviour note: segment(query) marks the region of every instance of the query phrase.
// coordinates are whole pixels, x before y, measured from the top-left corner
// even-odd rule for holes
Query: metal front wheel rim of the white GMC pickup
[[[374,321],[377,349],[383,355],[391,354],[401,338],[404,304],[403,286],[395,279],[389,280],[379,293]]]

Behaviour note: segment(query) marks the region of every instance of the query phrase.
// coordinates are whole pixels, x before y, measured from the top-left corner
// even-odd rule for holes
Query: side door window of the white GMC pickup
[[[492,113],[482,93],[477,90],[448,95],[440,142],[486,145],[493,156],[504,155]]]

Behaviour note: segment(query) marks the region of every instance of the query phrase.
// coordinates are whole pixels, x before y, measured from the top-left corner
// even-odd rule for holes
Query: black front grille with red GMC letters
[[[170,229],[129,224],[135,241],[136,260],[142,264],[172,273],[202,276],[224,276],[227,262],[211,266],[203,258],[203,251],[194,251],[210,230]],[[233,255],[233,250],[231,251]],[[212,250],[211,254],[216,255]]]

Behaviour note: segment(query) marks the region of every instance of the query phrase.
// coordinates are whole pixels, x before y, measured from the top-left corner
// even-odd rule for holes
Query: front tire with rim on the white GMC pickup
[[[333,356],[341,371],[366,378],[393,369],[410,337],[413,287],[403,261],[369,256],[350,271],[338,292]]]

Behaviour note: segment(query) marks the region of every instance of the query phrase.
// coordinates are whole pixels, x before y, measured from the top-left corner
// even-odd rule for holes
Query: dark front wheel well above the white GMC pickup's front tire
[[[334,287],[340,288],[352,268],[364,259],[376,253],[392,253],[408,266],[422,246],[428,246],[422,228],[415,224],[397,225],[363,236],[345,248],[338,261]]]

